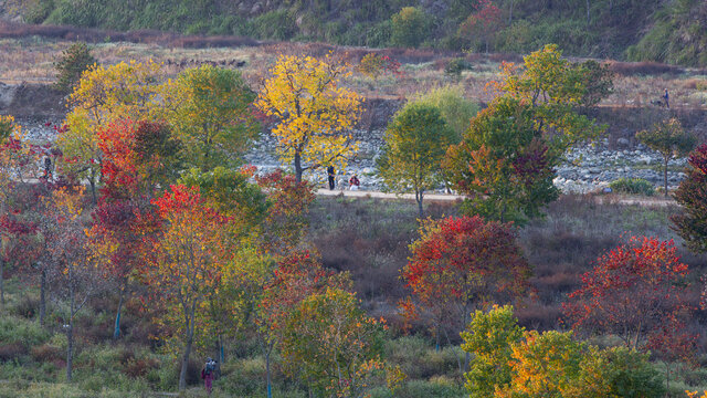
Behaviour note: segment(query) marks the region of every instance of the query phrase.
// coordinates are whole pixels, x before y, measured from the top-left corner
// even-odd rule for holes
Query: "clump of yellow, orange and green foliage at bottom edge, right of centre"
[[[648,356],[625,347],[599,349],[572,333],[525,331],[513,307],[476,312],[462,334],[474,354],[466,388],[473,398],[651,397],[665,394]]]

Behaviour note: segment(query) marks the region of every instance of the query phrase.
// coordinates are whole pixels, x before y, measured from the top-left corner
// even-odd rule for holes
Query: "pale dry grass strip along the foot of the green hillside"
[[[24,25],[23,25],[24,27]],[[3,29],[4,28],[4,29]],[[27,35],[33,31],[22,28],[9,33],[7,25],[0,24],[0,81],[6,83],[36,82],[54,80],[52,62],[68,48],[73,36],[83,32],[84,40],[94,43],[94,53],[101,63],[115,64],[120,61],[154,60],[163,62],[169,76],[186,67],[202,63],[213,63],[224,67],[241,67],[247,81],[256,87],[278,54],[308,54],[324,56],[331,53],[335,59],[357,64],[368,52],[388,55],[402,63],[401,77],[384,76],[372,81],[358,73],[347,81],[347,85],[368,97],[405,98],[418,91],[456,83],[444,74],[444,65],[453,57],[464,56],[472,64],[460,80],[466,95],[482,103],[488,103],[494,93],[486,90],[488,82],[498,78],[503,61],[521,62],[513,54],[461,54],[434,50],[414,49],[363,49],[341,48],[325,43],[257,43],[241,38],[180,36],[162,32],[106,32],[77,30],[74,28],[40,27],[43,35]],[[115,34],[114,34],[115,33]],[[72,40],[64,39],[66,35]],[[124,40],[124,41],[120,41]],[[110,42],[106,42],[110,41]],[[657,63],[610,62],[616,73],[615,92],[602,102],[609,107],[655,108],[651,101],[658,100],[663,88],[671,92],[674,109],[706,108],[704,92],[707,91],[707,72],[684,70]],[[656,108],[657,109],[657,108]]]

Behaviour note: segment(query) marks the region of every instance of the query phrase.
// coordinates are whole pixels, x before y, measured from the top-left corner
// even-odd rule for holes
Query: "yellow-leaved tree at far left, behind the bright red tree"
[[[161,64],[152,61],[93,65],[68,96],[71,112],[59,135],[65,171],[87,179],[96,201],[101,175],[99,128],[120,118],[148,119],[160,111],[155,101],[163,81]]]

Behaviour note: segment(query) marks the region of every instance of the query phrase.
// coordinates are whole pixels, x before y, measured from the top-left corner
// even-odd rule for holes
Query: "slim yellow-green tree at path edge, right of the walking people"
[[[383,139],[378,168],[386,190],[414,191],[422,218],[424,192],[442,182],[441,161],[454,132],[436,107],[412,103],[395,114]]]

